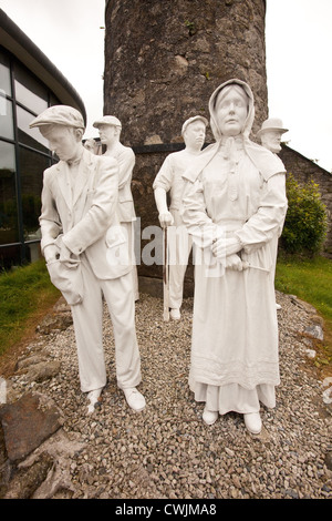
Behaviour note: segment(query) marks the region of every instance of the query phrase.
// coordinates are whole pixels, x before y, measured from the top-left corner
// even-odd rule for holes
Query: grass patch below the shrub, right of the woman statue
[[[297,295],[311,304],[324,319],[324,341],[319,346],[317,367],[332,369],[332,260],[325,257],[298,258],[279,256],[276,289]]]

